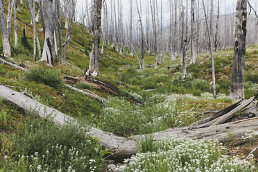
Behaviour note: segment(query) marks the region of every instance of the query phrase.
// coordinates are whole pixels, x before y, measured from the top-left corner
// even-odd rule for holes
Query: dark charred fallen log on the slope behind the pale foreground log
[[[64,79],[67,81],[67,83],[89,83],[94,87],[94,89],[98,89],[103,92],[107,92],[108,94],[113,94],[116,96],[123,96],[128,99],[128,101],[136,104],[144,104],[143,101],[138,100],[134,96],[126,93],[123,94],[120,92],[120,89],[118,87],[114,87],[113,85],[110,85],[108,83],[103,82],[102,80],[98,80],[96,78],[92,78],[91,76],[85,76],[85,77],[71,77],[71,76],[65,76]]]

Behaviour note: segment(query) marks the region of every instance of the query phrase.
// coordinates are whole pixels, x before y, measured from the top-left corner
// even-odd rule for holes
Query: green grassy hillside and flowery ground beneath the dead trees
[[[54,67],[49,67],[43,62],[37,62],[40,58],[33,60],[33,31],[30,25],[30,15],[26,6],[22,6],[19,2],[18,6],[19,47],[12,49],[12,58],[6,60],[27,67],[30,71],[24,73],[24,71],[8,65],[1,65],[0,84],[17,92],[26,92],[26,94],[32,95],[36,101],[74,117],[83,126],[93,126],[123,137],[146,135],[169,128],[189,126],[191,123],[208,117],[214,111],[222,110],[235,103],[229,97],[233,49],[220,50],[214,55],[216,100],[212,97],[212,65],[209,54],[199,54],[197,63],[194,65],[189,65],[188,54],[187,79],[182,80],[180,55],[175,61],[164,58],[158,69],[154,69],[152,65],[155,63],[155,56],[146,53],[146,69],[141,71],[137,58],[130,57],[126,52],[119,55],[110,44],[105,45],[104,54],[100,57],[99,76],[96,79],[117,87],[121,95],[104,92],[103,89],[96,88],[92,83],[78,82],[74,84],[78,89],[87,89],[107,99],[107,105],[105,105],[94,98],[74,92],[65,87],[64,82],[67,80],[63,79],[65,76],[83,76],[83,71],[89,66],[92,35],[85,26],[74,23],[66,56],[66,61],[74,67],[62,66],[58,63]],[[65,25],[64,20],[62,19],[62,26]],[[28,45],[22,44],[23,28],[25,27]],[[41,23],[37,24],[37,28],[41,27]],[[38,34],[40,35],[40,44],[43,46],[43,34],[40,31]],[[65,37],[65,28],[62,28],[62,37]],[[10,40],[13,45],[13,34],[11,34]],[[67,83],[71,85],[71,83]],[[255,96],[257,91],[258,45],[250,45],[246,52],[246,98]],[[145,104],[138,105],[128,101],[129,94]],[[212,111],[203,113],[209,110]],[[0,171],[30,171],[30,168],[31,171],[37,171],[38,166],[46,169],[44,164],[53,171],[57,171],[58,168],[69,171],[69,166],[77,168],[78,171],[105,171],[105,156],[108,155],[108,150],[101,149],[98,139],[85,135],[85,131],[79,129],[80,125],[60,128],[46,120],[38,119],[37,112],[33,112],[34,110],[26,112],[22,108],[0,99]],[[227,148],[226,153],[217,141],[199,142],[188,139],[171,139],[155,144],[151,135],[150,138],[146,137],[145,142],[139,143],[139,153],[154,152],[157,160],[167,161],[168,164],[175,160],[173,156],[178,157],[185,153],[186,160],[182,157],[182,160],[173,163],[182,161],[184,164],[188,162],[188,159],[196,159],[196,161],[200,159],[204,163],[208,158],[210,159],[209,164],[225,162],[225,166],[232,166],[233,163],[236,164],[235,171],[256,171],[257,151],[250,160],[253,165],[251,169],[248,165],[241,166],[237,161],[227,162],[227,157],[223,157],[223,155],[229,155],[228,159],[230,159],[232,156],[237,156],[243,160],[258,145],[257,132],[246,132],[252,137],[223,142],[223,146]],[[178,151],[175,147],[178,148]],[[171,150],[171,152],[167,150]],[[194,158],[191,158],[190,150],[198,150],[198,153],[193,155]],[[207,150],[209,153],[205,152]],[[160,154],[163,153],[162,151],[170,153],[170,159],[162,156]],[[131,161],[135,164],[137,161],[148,164],[153,161],[150,152],[138,155],[139,159],[132,157]],[[21,158],[22,155],[25,157]],[[37,158],[35,159],[35,157]],[[144,157],[146,157],[145,160]],[[74,159],[77,161],[75,162]],[[60,163],[52,166],[51,163],[56,161],[60,161]],[[202,163],[196,168],[205,168]],[[32,166],[29,167],[28,164]],[[153,171],[161,166],[166,166],[159,165],[153,167]],[[136,167],[130,166],[127,170],[130,171],[133,168]],[[212,167],[210,168],[210,170],[214,170]],[[230,167],[228,168],[230,169]]]

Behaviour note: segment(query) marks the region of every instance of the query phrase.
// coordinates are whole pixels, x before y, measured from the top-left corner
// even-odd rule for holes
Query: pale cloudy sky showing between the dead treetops
[[[85,1],[92,1],[92,0],[78,0],[77,3],[77,11],[80,12],[81,8],[83,8],[83,6],[85,6]],[[105,0],[105,2],[107,3],[107,6],[110,6],[110,1],[116,1],[117,0]],[[132,6],[133,6],[133,17],[135,19],[133,19],[134,21],[137,21],[138,19],[138,13],[137,13],[137,7],[136,7],[136,0],[132,0]],[[140,0],[138,0],[139,3]],[[145,18],[146,15],[146,7],[147,7],[147,1],[149,0],[141,0],[141,6],[143,9],[142,12],[142,17]],[[163,15],[164,15],[164,26],[169,24],[169,0],[157,0],[158,1],[158,6],[160,9],[160,3],[162,2],[162,6],[163,6]],[[184,0],[184,6],[186,6],[185,3],[186,0]],[[200,0],[200,5],[201,5],[201,1]],[[207,0],[205,0],[207,2]],[[251,5],[256,8],[256,4],[258,6],[258,2],[256,2],[256,0],[249,0]],[[129,14],[130,14],[130,0],[121,0],[122,2],[122,8],[123,8],[123,22],[128,22],[129,19]],[[196,3],[198,2],[198,0],[196,0]],[[189,0],[189,6],[190,6],[191,0]],[[226,13],[226,10],[228,13],[232,13],[234,12],[235,8],[236,8],[236,0],[220,0],[220,8],[221,8],[221,15]],[[214,8],[216,10],[217,8],[217,0],[214,0]]]

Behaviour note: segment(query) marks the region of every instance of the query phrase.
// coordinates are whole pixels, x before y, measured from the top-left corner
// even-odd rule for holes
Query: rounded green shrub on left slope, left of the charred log
[[[36,83],[43,83],[44,85],[49,85],[55,89],[60,89],[64,82],[60,77],[60,72],[54,71],[53,69],[44,69],[43,67],[38,67],[28,71],[26,73],[26,78]]]

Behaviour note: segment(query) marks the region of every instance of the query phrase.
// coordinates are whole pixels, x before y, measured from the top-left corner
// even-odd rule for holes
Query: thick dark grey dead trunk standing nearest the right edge
[[[244,98],[244,75],[246,55],[247,1],[238,0],[236,4],[236,31],[234,35],[234,58],[230,96]]]

